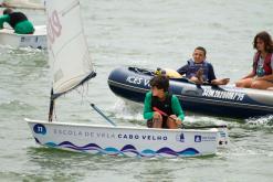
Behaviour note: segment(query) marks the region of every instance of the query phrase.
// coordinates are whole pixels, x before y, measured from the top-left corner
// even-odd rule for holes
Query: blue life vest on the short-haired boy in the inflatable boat
[[[202,68],[203,69],[203,81],[208,81],[209,78],[209,63],[203,61],[202,63],[195,63],[195,61],[191,58],[188,61],[188,71],[186,73],[187,78],[191,78],[192,76],[196,76],[196,73]]]

